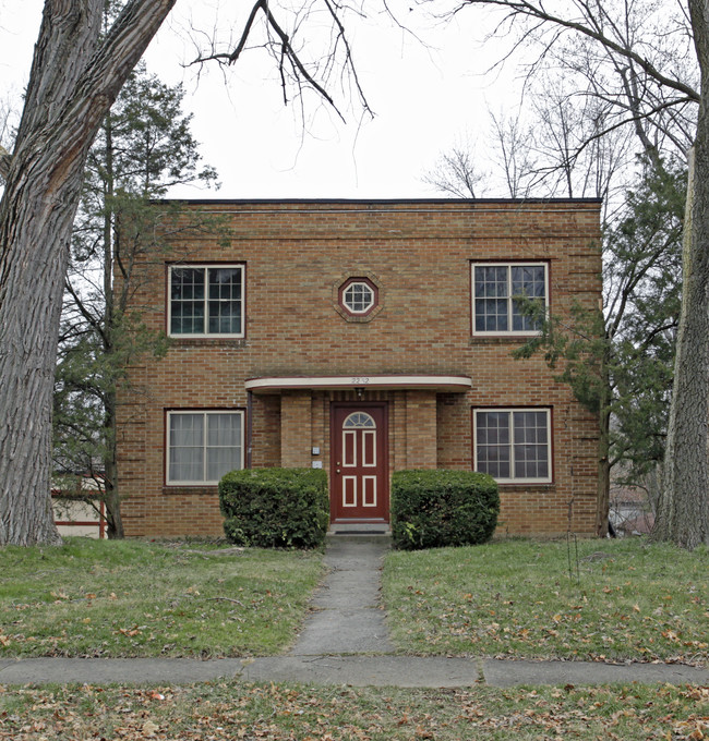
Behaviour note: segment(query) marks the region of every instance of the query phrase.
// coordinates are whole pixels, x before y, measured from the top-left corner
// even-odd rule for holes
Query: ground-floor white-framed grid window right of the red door
[[[476,410],[476,471],[500,482],[551,482],[548,409]]]

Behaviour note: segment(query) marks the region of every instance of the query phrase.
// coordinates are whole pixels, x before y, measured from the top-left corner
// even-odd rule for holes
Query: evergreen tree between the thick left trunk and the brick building
[[[63,487],[88,475],[106,505],[108,537],[122,537],[116,461],[116,392],[124,368],[165,337],[128,313],[142,276],[136,258],[158,253],[152,236],[166,215],[151,207],[172,185],[214,183],[200,169],[192,117],[181,86],[168,87],[143,65],[129,77],[88,154],[72,238],[53,410],[55,471]],[[117,275],[118,272],[118,281]]]

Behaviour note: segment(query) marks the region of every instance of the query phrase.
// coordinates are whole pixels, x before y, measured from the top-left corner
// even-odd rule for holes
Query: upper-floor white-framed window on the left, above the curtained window
[[[243,265],[172,265],[168,333],[243,337]]]

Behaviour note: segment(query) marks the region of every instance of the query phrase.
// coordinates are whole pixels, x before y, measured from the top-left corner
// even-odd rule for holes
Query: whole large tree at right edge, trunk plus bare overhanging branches
[[[694,148],[683,258],[683,311],[654,536],[693,548],[709,543],[709,14],[702,0],[464,0],[454,12],[500,11],[495,36],[514,53],[533,45],[529,73],[585,75],[610,104],[602,131],[632,126],[662,168]],[[509,54],[505,54],[507,58]],[[579,63],[580,62],[580,63]],[[590,64],[588,62],[591,62]]]

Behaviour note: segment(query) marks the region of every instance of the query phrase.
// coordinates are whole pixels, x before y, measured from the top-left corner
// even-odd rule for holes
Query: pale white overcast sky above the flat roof
[[[41,7],[40,0],[0,0],[0,100],[17,100],[26,83]],[[237,22],[229,16],[230,3],[178,0],[145,61],[164,82],[183,83],[185,109],[194,114],[193,134],[205,162],[217,169],[221,187],[215,193],[181,186],[169,195],[442,196],[423,182],[425,171],[441,153],[462,142],[477,141],[476,153],[484,159],[488,111],[514,107],[518,81],[512,65],[484,74],[500,49],[482,44],[479,11],[442,24],[410,11],[408,3],[393,0],[389,7],[406,29],[383,13],[348,26],[360,84],[375,117],[363,119],[361,109],[349,107],[334,88],[343,122],[313,95],[303,100],[304,116],[297,101],[284,106],[276,72],[257,51],[244,54],[226,73],[214,63],[188,65],[195,56],[195,37],[206,38],[202,32],[214,27],[226,37]],[[365,8],[381,7],[372,2]]]

